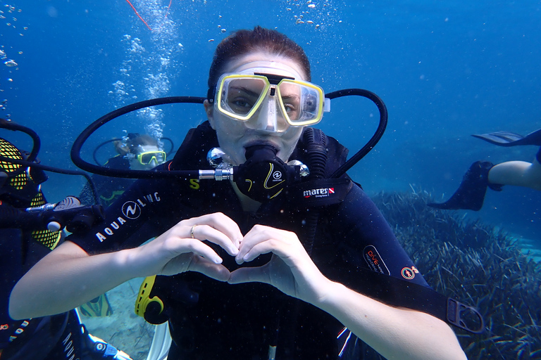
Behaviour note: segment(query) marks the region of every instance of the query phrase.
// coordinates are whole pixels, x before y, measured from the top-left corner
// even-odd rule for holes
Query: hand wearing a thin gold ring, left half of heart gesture
[[[204,243],[205,240],[235,256],[242,233],[235,221],[220,212],[193,217],[180,221],[151,242],[132,249],[128,261],[139,264],[138,276],[142,277],[197,271],[218,281],[227,281],[229,270],[222,265],[222,258]]]

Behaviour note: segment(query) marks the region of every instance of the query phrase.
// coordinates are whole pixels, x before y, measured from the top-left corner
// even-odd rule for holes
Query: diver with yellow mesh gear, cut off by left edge
[[[0,156],[25,160],[27,155],[0,138]],[[130,359],[128,354],[87,333],[75,310],[23,320],[8,316],[9,294],[15,283],[63,238],[62,230],[47,229],[52,218],[45,215],[54,211],[60,214],[62,207],[73,205],[73,198],[66,198],[55,210],[28,212],[25,209],[46,204],[41,191],[47,179],[44,172],[0,160],[0,175],[0,359]]]

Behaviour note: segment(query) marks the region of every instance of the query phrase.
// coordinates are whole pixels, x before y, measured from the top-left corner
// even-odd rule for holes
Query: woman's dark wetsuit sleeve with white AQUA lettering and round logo
[[[88,252],[96,254],[135,248],[146,240],[168,229],[166,194],[170,184],[162,180],[135,181],[105,210],[105,221],[85,233],[71,234],[72,241]],[[152,221],[151,221],[152,220]]]

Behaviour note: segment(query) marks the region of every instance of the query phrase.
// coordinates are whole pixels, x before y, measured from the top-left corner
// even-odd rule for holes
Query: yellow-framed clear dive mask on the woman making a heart
[[[250,129],[274,132],[321,121],[323,111],[328,110],[320,86],[266,70],[271,69],[223,74],[216,86],[214,108]]]

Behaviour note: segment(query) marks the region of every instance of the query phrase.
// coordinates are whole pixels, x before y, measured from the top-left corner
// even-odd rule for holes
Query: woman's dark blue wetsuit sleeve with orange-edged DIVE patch
[[[335,269],[339,269],[336,276],[344,285],[362,293],[366,284],[361,285],[356,271],[362,267],[428,287],[383,214],[359,186],[353,186],[337,207],[330,233],[339,239]]]

